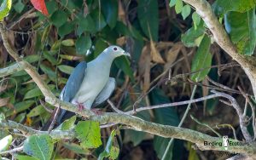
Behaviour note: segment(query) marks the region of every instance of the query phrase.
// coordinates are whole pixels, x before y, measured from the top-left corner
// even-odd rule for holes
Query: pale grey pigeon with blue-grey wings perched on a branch
[[[80,62],[62,89],[60,99],[71,102],[78,107],[90,109],[107,100],[115,88],[115,80],[109,77],[113,60],[121,55],[130,56],[119,46],[110,46],[89,63]],[[66,111],[61,109],[57,122],[61,123]],[[52,115],[55,114],[55,111]],[[68,116],[70,117],[70,116]],[[49,120],[51,122],[52,119]],[[48,129],[46,123],[42,130]]]

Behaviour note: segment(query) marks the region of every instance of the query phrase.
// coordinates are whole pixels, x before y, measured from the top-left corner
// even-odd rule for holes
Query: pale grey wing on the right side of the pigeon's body
[[[96,100],[94,101],[92,107],[100,105],[103,101],[107,100],[110,95],[113,93],[113,90],[115,88],[115,80],[113,77],[108,78],[108,83],[105,85],[105,87],[102,89],[100,94],[97,95]]]

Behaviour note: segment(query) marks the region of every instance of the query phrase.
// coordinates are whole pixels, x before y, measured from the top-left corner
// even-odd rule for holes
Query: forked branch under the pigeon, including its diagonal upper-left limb
[[[57,99],[55,95],[52,94],[48,86],[44,83],[44,81],[42,81],[38,72],[35,71],[34,68],[28,62],[20,59],[19,55],[13,49],[11,49],[7,39],[7,32],[4,30],[2,23],[0,23],[0,32],[3,37],[3,44],[7,49],[7,51],[9,52],[9,54],[11,54],[11,56],[13,56],[15,60],[24,67],[24,70],[32,77],[33,81],[37,83],[38,88],[42,91],[42,93],[45,96],[45,100],[49,104],[55,107],[61,106],[62,109],[65,109],[67,111],[73,111],[81,116],[88,117],[90,120],[94,120],[101,124],[120,123],[120,124],[130,126],[132,129],[147,132],[150,134],[156,134],[161,137],[176,138],[180,140],[189,140],[195,143],[197,146],[200,146],[200,148],[203,150],[222,151],[221,147],[219,146],[204,146],[205,141],[215,142],[217,140],[220,140],[219,138],[212,137],[207,134],[202,134],[200,132],[197,132],[191,129],[183,129],[183,128],[177,128],[177,127],[168,126],[168,125],[162,125],[158,123],[151,123],[151,122],[144,121],[141,118],[133,117],[131,115],[122,114],[122,113],[106,112],[106,113],[103,113],[102,115],[96,115],[93,111],[86,110],[86,109],[84,109],[83,111],[79,111],[79,108],[74,106],[73,104]],[[53,130],[52,132],[48,133],[47,131],[38,131],[35,129],[31,129],[22,124],[15,123],[12,121],[0,123],[0,128],[1,129],[18,129],[28,135],[29,134],[50,134],[53,138],[58,138],[58,139],[75,138],[75,134],[73,130],[70,130],[70,131]],[[256,145],[254,144],[254,142],[251,142],[246,146],[229,146],[229,151],[237,152],[237,153],[245,153],[247,155],[256,155]]]

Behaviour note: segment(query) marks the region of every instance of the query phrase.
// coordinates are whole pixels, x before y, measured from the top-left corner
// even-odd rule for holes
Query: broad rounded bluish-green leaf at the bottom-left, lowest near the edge
[[[24,142],[23,151],[38,159],[50,160],[54,148],[54,141],[48,134],[29,136]]]

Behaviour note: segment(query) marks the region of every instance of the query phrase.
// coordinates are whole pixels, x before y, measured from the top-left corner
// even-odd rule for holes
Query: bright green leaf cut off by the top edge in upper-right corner
[[[212,8],[215,14],[224,16],[229,11],[247,12],[253,9],[255,5],[255,0],[217,0],[212,4]]]

